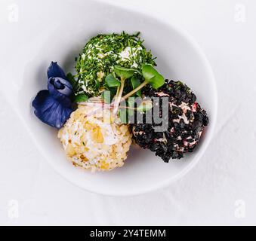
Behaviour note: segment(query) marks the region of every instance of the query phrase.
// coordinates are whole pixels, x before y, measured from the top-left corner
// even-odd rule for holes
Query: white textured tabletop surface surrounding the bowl
[[[0,224],[256,224],[256,2],[126,2],[187,30],[208,56],[219,99],[210,147],[168,188],[138,197],[103,197],[57,175],[0,96]],[[245,7],[245,21],[239,22],[237,4]],[[8,215],[10,200],[19,203],[18,218]]]

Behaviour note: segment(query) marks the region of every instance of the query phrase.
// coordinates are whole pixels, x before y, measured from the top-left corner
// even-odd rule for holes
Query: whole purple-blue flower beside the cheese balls
[[[41,90],[32,102],[35,115],[45,124],[60,129],[72,113],[72,85],[57,62],[48,68],[48,90]]]

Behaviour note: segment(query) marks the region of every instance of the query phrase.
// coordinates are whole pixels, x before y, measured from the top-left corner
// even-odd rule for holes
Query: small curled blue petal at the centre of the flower
[[[54,98],[72,95],[72,85],[63,78],[49,78],[48,90]]]

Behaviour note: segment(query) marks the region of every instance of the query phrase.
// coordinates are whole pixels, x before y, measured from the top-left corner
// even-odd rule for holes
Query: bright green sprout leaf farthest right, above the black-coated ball
[[[165,78],[160,75],[152,65],[144,65],[142,67],[142,75],[145,80],[156,90],[165,84]]]

